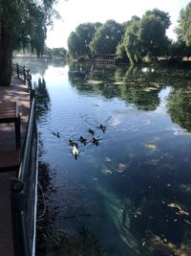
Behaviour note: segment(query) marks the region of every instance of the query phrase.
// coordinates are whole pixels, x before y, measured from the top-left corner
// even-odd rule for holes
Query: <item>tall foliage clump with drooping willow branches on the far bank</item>
[[[145,12],[141,19],[133,16],[127,23],[124,36],[124,46],[131,63],[134,64],[145,56],[152,60],[166,55],[170,42],[165,32],[169,26],[168,13],[158,9]]]

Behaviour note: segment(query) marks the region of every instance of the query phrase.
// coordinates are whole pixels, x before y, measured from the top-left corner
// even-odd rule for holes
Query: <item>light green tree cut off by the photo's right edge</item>
[[[191,46],[191,2],[180,11],[179,26],[176,30],[178,39]]]

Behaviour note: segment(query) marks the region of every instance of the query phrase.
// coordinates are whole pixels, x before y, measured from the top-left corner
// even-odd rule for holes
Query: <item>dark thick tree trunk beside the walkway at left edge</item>
[[[12,74],[12,40],[11,31],[5,29],[3,24],[0,27],[0,86],[11,84]]]

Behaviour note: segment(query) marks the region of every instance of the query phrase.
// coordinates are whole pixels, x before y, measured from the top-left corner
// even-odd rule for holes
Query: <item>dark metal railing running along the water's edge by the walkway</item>
[[[25,68],[20,67],[18,77],[23,76]],[[29,70],[28,70],[29,71]],[[26,79],[31,76],[24,75]],[[35,220],[37,204],[37,175],[38,175],[38,136],[35,122],[35,98],[31,87],[31,110],[26,137],[23,146],[21,164],[17,178],[12,180],[12,224],[15,256],[35,255]]]

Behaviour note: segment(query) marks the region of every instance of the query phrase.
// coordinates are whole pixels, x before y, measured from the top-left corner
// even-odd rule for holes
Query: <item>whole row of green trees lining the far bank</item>
[[[177,42],[166,36],[171,21],[168,12],[158,9],[133,16],[122,24],[115,20],[80,24],[68,38],[71,58],[112,56],[131,64],[159,58],[191,56],[191,2],[180,11]]]

